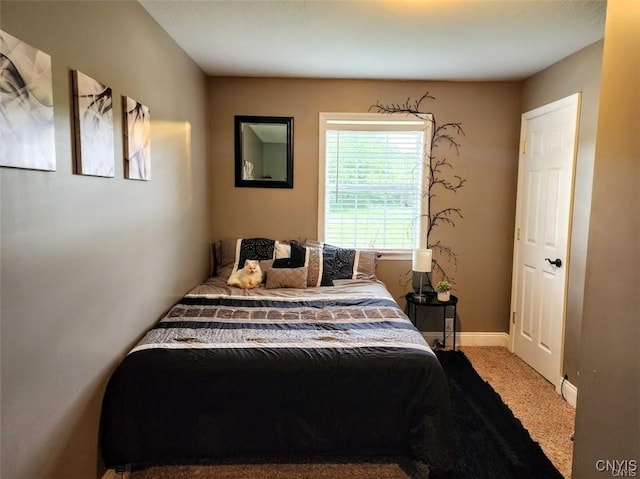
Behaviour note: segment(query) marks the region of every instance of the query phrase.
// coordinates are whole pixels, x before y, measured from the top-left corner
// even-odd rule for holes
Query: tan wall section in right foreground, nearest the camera
[[[600,472],[599,460],[634,460],[634,475],[639,473],[638,45],[640,2],[609,0],[579,357],[575,478],[630,477]]]

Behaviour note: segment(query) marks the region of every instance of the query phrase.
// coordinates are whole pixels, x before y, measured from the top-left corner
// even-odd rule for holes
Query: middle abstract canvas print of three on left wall
[[[73,72],[76,173],[113,177],[115,145],[111,88]]]

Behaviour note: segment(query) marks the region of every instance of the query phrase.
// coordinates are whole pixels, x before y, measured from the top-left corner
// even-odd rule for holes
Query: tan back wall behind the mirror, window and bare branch
[[[317,237],[318,114],[367,112],[430,92],[440,123],[461,122],[455,173],[468,182],[446,196],[464,219],[441,229],[460,257],[454,272],[462,331],[508,331],[520,128],[519,83],[210,78],[212,213],[216,238]],[[234,115],[294,117],[294,188],[234,187]],[[438,197],[445,198],[442,194]],[[379,277],[400,300],[409,261],[381,262]],[[400,300],[401,304],[404,300]]]

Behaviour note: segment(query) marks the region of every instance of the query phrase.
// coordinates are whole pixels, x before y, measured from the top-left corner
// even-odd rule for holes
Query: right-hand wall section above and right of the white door
[[[523,113],[576,92],[582,94],[569,261],[565,261],[569,268],[569,276],[563,366],[563,373],[566,373],[569,381],[578,387],[578,350],[582,329],[602,45],[602,41],[594,43],[550,66],[527,79],[522,90]]]

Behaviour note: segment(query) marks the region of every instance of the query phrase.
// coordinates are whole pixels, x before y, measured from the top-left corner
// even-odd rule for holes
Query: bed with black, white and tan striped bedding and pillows
[[[295,276],[300,266],[274,265],[289,254],[285,266],[292,266],[290,246],[243,253],[243,243],[236,241],[231,271],[258,256],[267,270],[263,287],[227,286],[223,268],[116,368],[101,416],[107,467],[401,456],[425,477],[450,471],[446,378],[384,284],[362,271],[365,255],[303,247],[305,284],[290,287],[281,273]],[[267,287],[270,274],[280,280]]]

